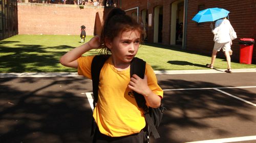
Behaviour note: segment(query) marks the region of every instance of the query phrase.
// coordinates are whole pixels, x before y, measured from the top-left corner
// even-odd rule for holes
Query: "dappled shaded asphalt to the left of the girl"
[[[83,77],[0,81],[0,142],[90,140],[92,110],[81,96],[87,90]]]

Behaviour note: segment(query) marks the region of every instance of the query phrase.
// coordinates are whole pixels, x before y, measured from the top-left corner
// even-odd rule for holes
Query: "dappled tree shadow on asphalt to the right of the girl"
[[[210,82],[190,82],[186,80],[173,79],[159,81],[159,84],[163,89],[222,87],[222,85]],[[243,97],[244,100],[256,100],[255,93],[251,93],[243,89],[228,90],[229,93],[236,93],[236,95],[246,95],[246,97]],[[222,122],[223,118],[238,118],[240,124],[249,122],[253,126],[245,128],[246,130],[248,129],[252,132],[255,127],[255,116],[253,113],[249,112],[250,110],[255,110],[254,106],[245,104],[244,102],[230,98],[228,96],[223,96],[222,93],[216,92],[215,90],[164,91],[163,104],[167,110],[164,112],[163,120],[159,127],[161,138],[153,139],[154,143],[183,143],[193,141],[191,140],[193,139],[191,136],[200,138],[198,132],[193,132],[191,130],[202,132],[213,130],[212,134],[210,135],[211,137],[214,135],[228,136],[232,134],[231,132],[233,130],[222,126],[212,126],[211,124],[212,121],[216,120],[220,120],[220,122]],[[230,120],[230,122],[232,121]],[[232,124],[230,122],[227,124]],[[236,125],[233,126],[236,127]],[[204,136],[204,134],[201,135]]]

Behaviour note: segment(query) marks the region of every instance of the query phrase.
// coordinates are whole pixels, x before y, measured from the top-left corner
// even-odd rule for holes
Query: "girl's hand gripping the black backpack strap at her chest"
[[[140,78],[138,75],[134,74],[131,78],[131,81],[129,82],[128,87],[144,96],[150,94],[152,91],[147,85],[147,77],[144,76],[144,79]]]

